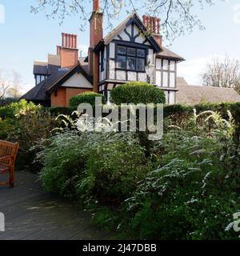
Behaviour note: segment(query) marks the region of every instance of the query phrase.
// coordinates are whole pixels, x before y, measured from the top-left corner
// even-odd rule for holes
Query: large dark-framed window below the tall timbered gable
[[[117,68],[145,72],[146,50],[135,47],[117,46]]]

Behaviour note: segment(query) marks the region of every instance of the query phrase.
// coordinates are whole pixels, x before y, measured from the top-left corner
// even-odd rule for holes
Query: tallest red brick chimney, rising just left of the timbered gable
[[[90,17],[90,47],[88,62],[90,75],[94,77],[94,91],[98,92],[98,54],[94,53],[94,47],[102,40],[102,21],[103,14],[100,12],[100,1],[93,0],[93,13]]]

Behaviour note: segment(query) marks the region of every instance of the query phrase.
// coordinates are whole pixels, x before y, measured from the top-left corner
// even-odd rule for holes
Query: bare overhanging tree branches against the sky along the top
[[[36,6],[31,6],[31,12],[44,11],[48,18],[58,18],[60,24],[70,14],[79,17],[79,28],[84,30],[86,21],[90,17],[91,5],[85,0],[37,0]],[[90,1],[92,2],[92,1]],[[191,32],[195,26],[204,29],[198,15],[194,14],[194,7],[203,9],[212,6],[216,0],[102,0],[102,12],[106,16],[109,28],[113,26],[114,18],[118,18],[122,11],[130,13],[138,11],[143,14],[162,19],[162,32],[166,39],[173,40],[185,32]]]

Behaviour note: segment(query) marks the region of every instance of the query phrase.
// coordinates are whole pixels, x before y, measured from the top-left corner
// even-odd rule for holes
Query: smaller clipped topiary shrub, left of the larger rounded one
[[[75,109],[81,103],[89,103],[91,106],[94,106],[96,97],[101,97],[102,104],[105,103],[105,98],[102,94],[97,94],[97,93],[89,91],[89,92],[85,92],[82,94],[78,94],[78,95],[70,98],[69,105],[70,105],[70,107],[75,108]]]

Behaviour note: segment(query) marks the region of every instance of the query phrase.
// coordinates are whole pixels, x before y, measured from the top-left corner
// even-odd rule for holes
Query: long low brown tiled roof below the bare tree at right
[[[201,102],[240,102],[240,95],[233,88],[177,84],[177,89],[177,103],[193,106]]]

